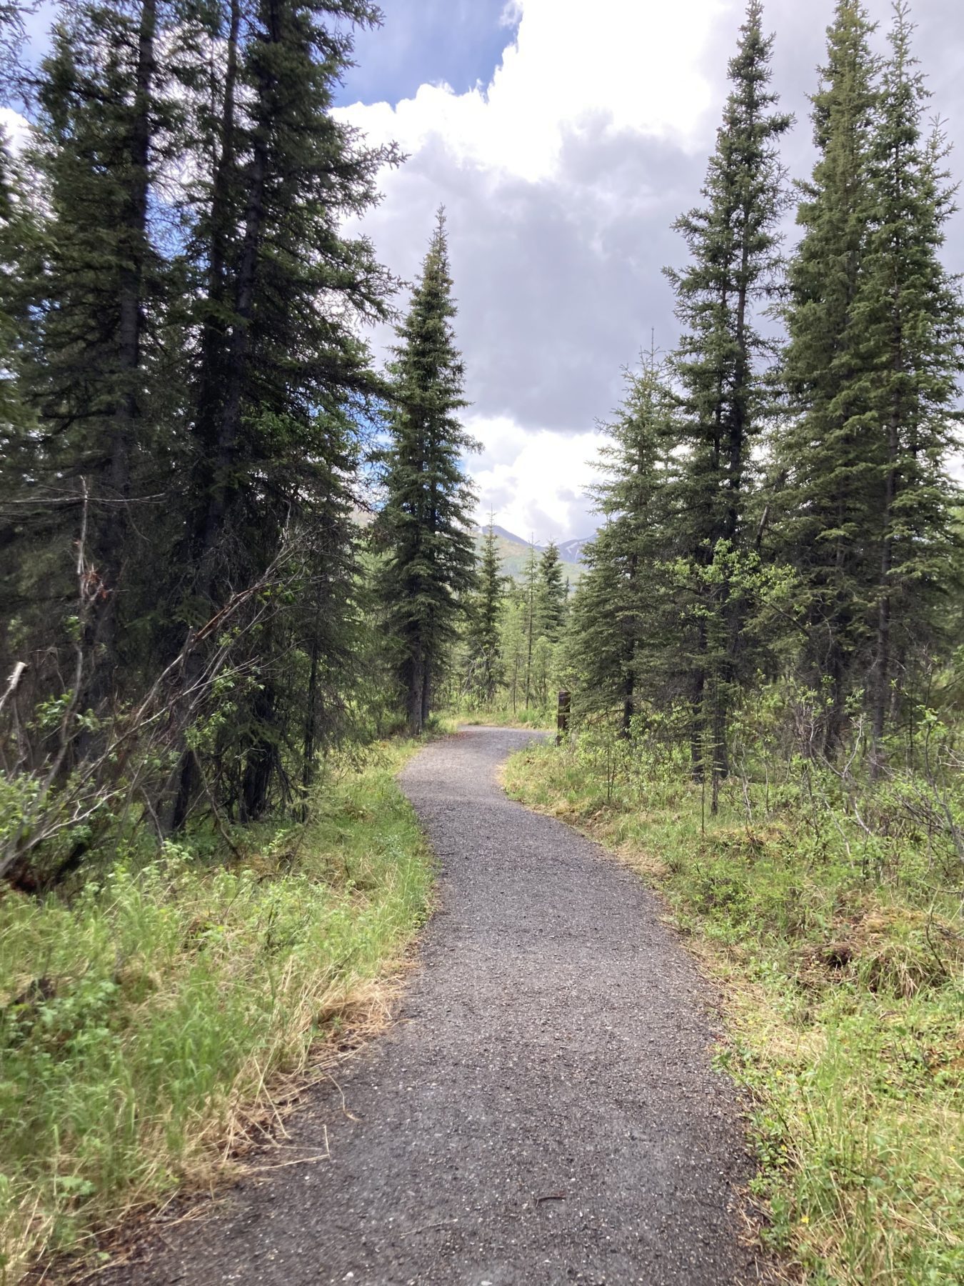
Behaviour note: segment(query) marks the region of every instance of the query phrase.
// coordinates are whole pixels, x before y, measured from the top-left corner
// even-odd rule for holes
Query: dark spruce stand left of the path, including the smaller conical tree
[[[377,18],[66,5],[39,72],[14,71],[8,881],[57,882],[118,817],[298,813],[334,745],[428,716],[473,576],[470,444],[443,220],[407,306],[342,230],[397,162],[330,112]],[[388,318],[377,372],[365,324]]]

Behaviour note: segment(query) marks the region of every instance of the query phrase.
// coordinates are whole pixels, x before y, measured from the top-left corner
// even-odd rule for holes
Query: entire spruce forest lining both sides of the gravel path
[[[964,303],[910,10],[882,55],[838,0],[802,177],[749,0],[666,269],[680,338],[626,376],[577,585],[555,544],[513,577],[477,540],[443,210],[411,285],[351,230],[404,163],[333,111],[379,22],[72,0],[35,67],[0,5],[30,121],[0,147],[8,905],[158,854],[233,872],[344,756],[566,689],[607,802],[657,765],[706,827],[792,781],[862,877],[925,853],[933,913],[964,862]]]

